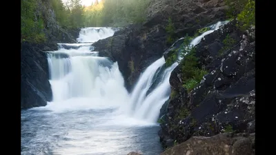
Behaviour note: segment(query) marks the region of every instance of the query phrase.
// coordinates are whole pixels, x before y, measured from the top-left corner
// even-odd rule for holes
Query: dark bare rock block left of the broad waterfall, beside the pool
[[[21,109],[46,105],[52,100],[46,53],[41,48],[45,47],[21,45]]]

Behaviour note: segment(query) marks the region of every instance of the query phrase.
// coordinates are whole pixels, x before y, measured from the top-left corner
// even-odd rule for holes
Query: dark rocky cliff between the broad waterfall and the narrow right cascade
[[[95,51],[101,56],[108,56],[117,61],[119,70],[124,76],[126,87],[131,90],[141,72],[148,65],[159,59],[173,41],[193,35],[206,25],[226,19],[224,11],[226,6],[220,1],[213,4],[199,3],[190,0],[182,1],[152,1],[148,12],[148,20],[141,25],[130,25],[119,30],[113,37],[102,39],[93,44]],[[166,30],[169,19],[174,29]],[[172,41],[168,42],[168,38]]]

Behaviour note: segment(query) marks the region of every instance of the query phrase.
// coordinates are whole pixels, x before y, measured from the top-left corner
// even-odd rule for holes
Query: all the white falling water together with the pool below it
[[[111,28],[83,28],[80,43],[60,43],[59,50],[47,53],[53,100],[21,111],[21,155],[162,152],[157,118],[170,96],[170,73],[178,63],[164,68],[162,56],[128,94],[117,63],[90,52],[92,42],[113,34]]]

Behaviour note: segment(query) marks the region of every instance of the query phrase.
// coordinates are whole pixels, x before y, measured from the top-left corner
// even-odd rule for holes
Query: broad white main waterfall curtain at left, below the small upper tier
[[[128,103],[117,63],[90,52],[89,47],[48,52],[48,64],[53,101],[46,107],[50,110],[88,110]]]

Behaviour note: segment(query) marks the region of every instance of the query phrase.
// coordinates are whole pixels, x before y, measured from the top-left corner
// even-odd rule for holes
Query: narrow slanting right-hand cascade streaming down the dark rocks
[[[211,25],[210,30],[193,39],[193,41],[190,42],[190,45],[197,45],[201,39],[204,38],[204,36],[214,32],[220,25],[224,25],[226,23],[228,23],[228,21],[219,21],[215,25]],[[179,59],[181,60],[183,58],[179,57]],[[159,117],[159,110],[161,109],[161,106],[169,99],[170,73],[177,67],[177,62],[166,68],[166,70],[162,73],[163,77],[161,81],[159,81],[155,89],[152,90],[150,94],[146,95],[150,85],[154,82],[152,81],[152,76],[154,76],[157,69],[161,68],[164,64],[165,59],[164,56],[162,56],[160,59],[152,63],[152,65],[148,66],[148,68],[146,68],[143,74],[139,77],[135,89],[131,94],[131,108],[129,112],[135,118],[143,119],[152,123],[156,122]]]

